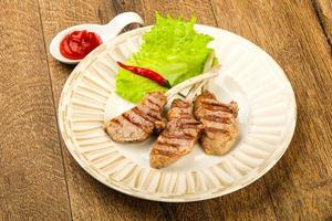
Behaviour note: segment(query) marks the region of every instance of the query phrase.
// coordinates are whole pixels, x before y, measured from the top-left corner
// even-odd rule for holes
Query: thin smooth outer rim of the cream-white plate
[[[128,190],[126,188],[121,188],[117,187],[116,185],[114,185],[113,182],[108,181],[106,182],[104,179],[101,179],[101,177],[97,173],[94,173],[92,171],[90,171],[87,169],[89,164],[84,162],[83,160],[81,160],[76,154],[74,152],[73,149],[71,149],[69,146],[71,146],[72,144],[70,144],[69,139],[64,139],[65,134],[64,134],[64,128],[63,128],[63,119],[61,117],[61,112],[63,109],[63,99],[64,99],[64,92],[70,87],[71,82],[76,77],[76,75],[80,74],[80,72],[77,72],[77,70],[81,69],[81,66],[84,65],[84,61],[91,59],[92,56],[94,56],[95,54],[97,54],[100,51],[104,50],[104,48],[106,46],[106,44],[108,44],[112,41],[115,41],[118,38],[125,38],[126,35],[133,34],[134,32],[138,32],[138,31],[146,31],[148,29],[151,29],[153,25],[148,25],[148,27],[143,27],[143,28],[138,28],[128,32],[125,32],[121,35],[115,36],[114,39],[111,39],[106,42],[104,42],[102,45],[100,45],[98,48],[96,48],[95,50],[93,50],[87,56],[85,56],[82,62],[80,62],[75,69],[71,72],[70,76],[68,77],[68,80],[65,81],[65,84],[62,88],[61,92],[61,96],[59,99],[59,106],[58,106],[58,124],[59,124],[59,128],[60,128],[60,133],[61,136],[64,140],[65,147],[66,149],[70,151],[71,156],[75,159],[75,161],[80,165],[81,168],[83,168],[85,170],[85,172],[87,172],[90,176],[92,176],[94,179],[96,179],[97,181],[102,182],[103,185],[107,186],[108,188],[112,188],[116,191],[120,191],[122,193],[132,196],[132,197],[136,197],[139,199],[144,199],[144,200],[151,200],[151,201],[158,201],[158,202],[194,202],[194,201],[201,201],[201,200],[207,200],[207,199],[214,199],[214,198],[218,198],[221,196],[226,196],[229,194],[231,192],[235,192],[237,190],[240,190],[249,185],[251,185],[252,182],[257,181],[258,179],[260,179],[261,177],[263,177],[273,166],[276,166],[276,164],[281,159],[281,157],[284,155],[286,150],[289,148],[290,143],[292,141],[294,131],[295,131],[295,125],[297,125],[297,101],[295,101],[295,95],[294,95],[294,91],[293,87],[288,78],[288,76],[286,75],[284,71],[281,69],[281,66],[278,64],[278,62],[268,53],[266,52],[263,49],[261,49],[260,46],[258,46],[257,44],[255,44],[253,42],[249,41],[248,39],[238,35],[234,32],[224,30],[221,28],[216,28],[216,27],[209,27],[209,25],[205,25],[205,24],[195,24],[195,29],[214,29],[215,31],[222,31],[226,32],[228,34],[231,35],[236,35],[237,38],[240,38],[242,41],[246,41],[247,43],[251,44],[252,46],[259,49],[259,51],[263,52],[266,56],[268,56],[271,62],[273,62],[276,64],[276,67],[278,67],[278,71],[282,74],[282,76],[284,77],[287,83],[287,90],[289,91],[289,97],[291,99],[291,107],[292,108],[292,116],[290,116],[290,125],[289,125],[289,129],[288,129],[288,135],[286,135],[284,140],[283,140],[283,145],[282,145],[282,151],[278,151],[278,156],[277,158],[274,157],[274,160],[271,161],[270,164],[268,164],[260,172],[257,173],[257,176],[251,179],[250,181],[246,182],[245,185],[237,185],[234,187],[230,187],[226,190],[220,190],[218,192],[214,192],[214,193],[209,193],[207,196],[199,196],[198,198],[183,198],[183,197],[172,197],[172,198],[165,198],[165,197],[160,197],[160,196],[154,196],[154,194],[146,194],[143,192],[133,192],[132,190]],[[273,155],[276,152],[273,152],[269,158],[272,158]],[[269,158],[267,158],[267,160],[269,160]],[[195,194],[194,194],[195,196]]]

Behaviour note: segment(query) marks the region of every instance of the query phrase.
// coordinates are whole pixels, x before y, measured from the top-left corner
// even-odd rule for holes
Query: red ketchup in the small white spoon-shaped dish
[[[80,60],[102,43],[101,36],[94,32],[74,31],[61,41],[60,53],[66,59]]]

